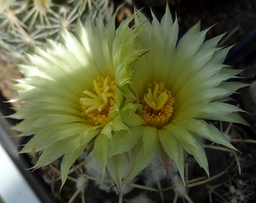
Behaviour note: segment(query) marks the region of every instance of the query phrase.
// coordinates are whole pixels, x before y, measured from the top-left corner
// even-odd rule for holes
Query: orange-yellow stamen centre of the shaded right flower
[[[174,102],[171,92],[165,89],[165,83],[155,83],[153,92],[152,87],[148,87],[148,93],[145,93],[143,97],[142,117],[144,121],[148,126],[156,128],[166,126],[172,116]]]

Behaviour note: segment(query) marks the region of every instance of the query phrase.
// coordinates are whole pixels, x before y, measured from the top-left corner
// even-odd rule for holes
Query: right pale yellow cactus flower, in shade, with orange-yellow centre
[[[138,13],[135,24],[145,21],[145,16]],[[222,102],[245,85],[227,82],[240,70],[223,65],[230,48],[217,47],[223,35],[205,41],[207,31],[200,31],[198,23],[177,42],[177,20],[172,21],[167,8],[160,22],[154,17],[137,35],[141,48],[149,52],[132,65],[136,72],[126,87],[129,94],[125,97],[138,105],[135,114],[139,117],[131,119],[120,114],[131,133],[123,134],[122,139],[133,138],[132,144],[125,144],[118,151],[130,150],[123,183],[148,166],[154,155],[160,155],[166,172],[173,161],[183,180],[185,152],[193,155],[208,173],[201,138],[235,149],[216,127],[204,120],[246,124],[234,113],[241,111],[239,108]],[[114,138],[114,147],[120,148]]]

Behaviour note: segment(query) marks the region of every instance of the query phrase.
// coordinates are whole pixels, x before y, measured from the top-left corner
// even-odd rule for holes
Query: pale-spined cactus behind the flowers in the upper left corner
[[[58,39],[61,26],[74,31],[78,19],[102,14],[109,20],[113,2],[107,0],[20,0],[0,4],[0,50],[3,59],[28,63],[25,53],[34,46],[45,47],[46,38]]]

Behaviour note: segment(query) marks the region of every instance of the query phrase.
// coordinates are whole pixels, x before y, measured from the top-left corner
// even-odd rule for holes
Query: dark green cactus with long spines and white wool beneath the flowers
[[[224,133],[230,133],[236,128],[235,124],[227,125]],[[238,146],[244,139],[236,140]],[[254,140],[247,140],[256,143]],[[55,199],[63,202],[143,202],[143,203],[245,203],[253,200],[253,185],[249,179],[240,175],[241,154],[234,149],[226,149],[211,143],[205,144],[209,161],[210,177],[196,164],[193,157],[187,155],[185,174],[186,185],[177,173],[177,167],[171,164],[169,178],[161,167],[160,161],[154,161],[137,175],[123,190],[122,199],[108,175],[102,178],[100,166],[93,155],[86,159],[81,155],[68,172],[67,183],[62,191],[61,174],[58,170],[60,160],[44,166],[44,179],[51,186]],[[86,154],[86,152],[84,152]],[[38,156],[38,155],[36,155]],[[38,159],[38,158],[37,158]],[[60,194],[61,193],[61,194]]]

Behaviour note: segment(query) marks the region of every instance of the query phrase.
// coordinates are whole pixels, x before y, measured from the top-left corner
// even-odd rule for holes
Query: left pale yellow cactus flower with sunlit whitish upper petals
[[[76,36],[62,28],[61,42],[49,40],[48,48],[28,55],[33,65],[20,65],[26,77],[15,85],[20,96],[14,100],[26,104],[12,116],[24,120],[14,128],[20,136],[34,134],[20,153],[42,151],[34,167],[63,156],[62,183],[88,145],[104,172],[113,133],[128,130],[119,112],[134,107],[124,103],[119,88],[144,52],[134,48],[138,31],[129,27],[132,18],[117,30],[115,15],[107,25],[102,16],[96,25],[88,18],[84,26],[79,21]]]

